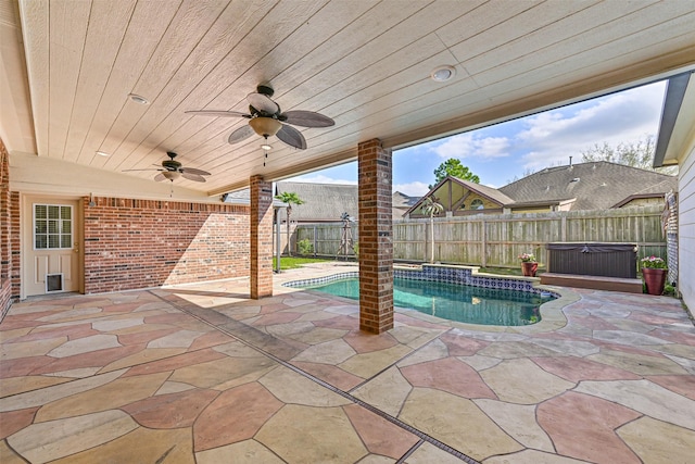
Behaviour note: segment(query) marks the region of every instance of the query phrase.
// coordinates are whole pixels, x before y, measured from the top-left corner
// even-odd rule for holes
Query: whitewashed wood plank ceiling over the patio
[[[22,0],[18,11],[26,70],[5,72],[28,76],[39,156],[121,173],[170,150],[213,174],[177,183],[211,196],[353,160],[375,137],[413,145],[695,65],[687,0]],[[454,78],[430,79],[444,64]],[[248,112],[260,83],[283,111],[336,125],[300,128],[307,150],[271,138],[264,166],[261,137],[227,142],[248,120],[185,113]],[[12,150],[27,129],[5,131]]]

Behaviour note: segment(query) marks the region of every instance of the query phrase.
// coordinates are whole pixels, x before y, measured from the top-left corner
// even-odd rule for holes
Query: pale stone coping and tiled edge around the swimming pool
[[[425,272],[427,268],[430,271],[429,275]],[[454,284],[466,284],[472,285],[475,287],[482,288],[500,288],[500,289],[508,289],[508,290],[520,290],[528,291],[533,293],[543,293],[549,292],[553,293],[556,299],[547,301],[539,308],[541,312],[541,321],[535,324],[525,325],[525,326],[495,326],[495,325],[482,325],[482,324],[469,324],[469,323],[460,323],[455,321],[448,321],[441,317],[432,316],[429,314],[420,313],[417,310],[395,306],[394,310],[408,315],[409,317],[414,317],[417,319],[421,319],[424,322],[446,325],[452,328],[458,328],[463,330],[477,330],[477,331],[493,331],[493,333],[514,333],[514,334],[536,334],[536,333],[545,333],[560,329],[567,325],[567,317],[563,310],[579,301],[579,293],[565,288],[565,287],[555,287],[547,285],[540,285],[541,279],[538,277],[521,277],[521,276],[502,276],[497,274],[489,274],[489,273],[479,273],[479,267],[477,266],[462,266],[462,265],[452,265],[452,264],[421,264],[414,266],[402,266],[394,264],[393,274],[394,277],[405,277],[405,278],[414,278],[419,280],[435,280],[434,276],[444,276],[445,278],[439,281],[450,281]],[[425,275],[407,276],[406,273],[415,273],[420,272]],[[359,271],[349,271],[349,272],[338,272],[332,274],[327,274],[320,277],[305,278],[305,279],[293,279],[288,280],[281,284],[282,287],[287,289],[294,289],[301,291],[318,291],[312,290],[311,288],[302,288],[300,286],[307,285],[316,285],[316,284],[326,284],[332,280],[338,280],[341,278],[352,278],[358,277]],[[419,278],[418,278],[419,277]],[[501,281],[502,285],[494,286],[493,280]],[[476,285],[483,284],[483,285]],[[323,293],[325,294],[325,293]],[[355,300],[350,300],[348,298],[331,296],[331,298],[340,298],[351,301],[352,303]]]

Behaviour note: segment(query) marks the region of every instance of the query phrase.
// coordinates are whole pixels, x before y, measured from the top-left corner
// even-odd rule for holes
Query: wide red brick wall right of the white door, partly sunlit
[[[94,198],[85,293],[249,276],[249,208]]]

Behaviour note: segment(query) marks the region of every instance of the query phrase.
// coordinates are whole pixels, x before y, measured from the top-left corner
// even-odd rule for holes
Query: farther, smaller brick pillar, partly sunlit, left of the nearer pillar
[[[273,184],[251,176],[251,298],[273,296]]]

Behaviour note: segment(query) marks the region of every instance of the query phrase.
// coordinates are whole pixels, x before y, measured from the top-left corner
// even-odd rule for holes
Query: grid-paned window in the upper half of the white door
[[[34,249],[65,249],[73,246],[73,208],[64,204],[34,205]]]

